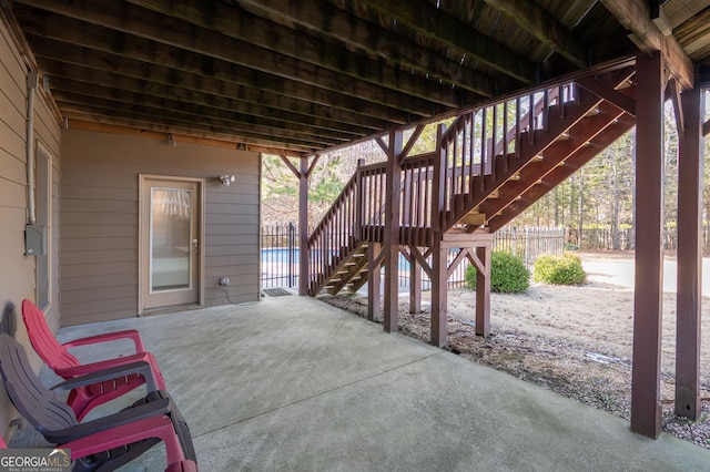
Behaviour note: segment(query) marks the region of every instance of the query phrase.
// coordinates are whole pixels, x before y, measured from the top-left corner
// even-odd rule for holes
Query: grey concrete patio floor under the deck
[[[128,328],[155,355],[203,472],[710,468],[708,450],[635,434],[620,418],[312,298],[266,297],[58,336]],[[87,348],[80,356],[95,359]],[[45,368],[42,379],[55,381]],[[124,470],[162,470],[162,461],[153,451]]]

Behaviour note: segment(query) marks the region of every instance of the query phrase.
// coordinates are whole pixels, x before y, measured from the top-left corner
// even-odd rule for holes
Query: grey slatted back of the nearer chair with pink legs
[[[38,431],[59,431],[79,423],[72,409],[39,381],[24,348],[4,332],[0,335],[0,372],[12,404]]]

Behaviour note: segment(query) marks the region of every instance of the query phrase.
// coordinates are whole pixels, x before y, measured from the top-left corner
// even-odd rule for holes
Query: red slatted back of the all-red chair
[[[69,353],[52,335],[42,310],[28,299],[22,300],[22,319],[32,347],[50,369],[67,369],[80,365],[79,359]]]

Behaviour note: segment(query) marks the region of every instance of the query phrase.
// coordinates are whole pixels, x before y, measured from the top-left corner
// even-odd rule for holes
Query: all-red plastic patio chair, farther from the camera
[[[42,310],[27,299],[22,300],[22,319],[27,326],[30,342],[37,353],[47,362],[54,373],[64,380],[115,366],[145,361],[151,366],[158,387],[161,390],[165,389],[165,382],[158,367],[158,361],[152,353],[145,351],[140,334],[135,329],[91,336],[60,345],[50,331],[49,326],[47,326]],[[82,365],[79,359],[68,350],[68,348],[77,346],[100,345],[101,342],[115,341],[119,339],[131,339],[135,345],[135,353]],[[145,379],[142,376],[130,374],[85,387],[77,387],[69,393],[67,403],[74,410],[77,418],[81,421],[91,409],[116,399],[143,383],[145,383]]]

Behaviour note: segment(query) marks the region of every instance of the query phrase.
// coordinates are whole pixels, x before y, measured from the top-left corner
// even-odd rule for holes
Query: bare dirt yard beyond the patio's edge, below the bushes
[[[584,261],[631,264],[629,254],[580,254]],[[594,264],[598,267],[598,264]],[[448,295],[449,345],[462,357],[544,386],[559,394],[630,418],[633,291],[589,275],[581,286],[531,284],[527,294],[491,294],[490,336],[475,335],[475,293]],[[410,315],[400,297],[399,331],[429,340],[429,293],[423,312]],[[323,297],[323,301],[367,316],[358,296]],[[663,295],[661,399],[663,429],[710,449],[710,298],[703,297],[701,419],[693,423],[673,413],[676,294]]]

